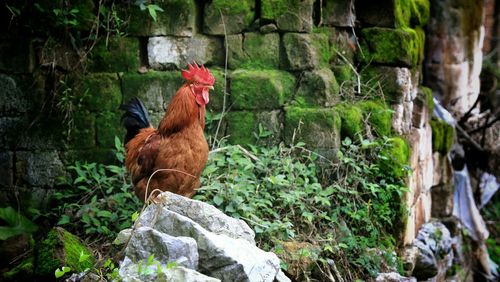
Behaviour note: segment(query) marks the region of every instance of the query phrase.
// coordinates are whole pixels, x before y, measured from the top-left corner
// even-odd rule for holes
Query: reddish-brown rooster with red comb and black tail
[[[177,90],[158,129],[149,122],[142,102],[134,98],[120,109],[127,129],[125,166],[135,194],[146,201],[152,191],[170,191],[192,197],[200,186],[200,175],[208,159],[203,134],[205,105],[214,76],[203,65],[188,64],[182,70],[185,83]]]

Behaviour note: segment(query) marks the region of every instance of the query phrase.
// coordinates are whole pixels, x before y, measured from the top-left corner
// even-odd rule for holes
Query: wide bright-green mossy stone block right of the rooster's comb
[[[284,71],[236,70],[231,75],[235,110],[278,109],[292,96],[295,77]]]

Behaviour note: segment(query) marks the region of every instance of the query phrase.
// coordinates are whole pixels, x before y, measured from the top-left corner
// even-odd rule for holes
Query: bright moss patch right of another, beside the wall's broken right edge
[[[382,101],[362,101],[358,106],[363,111],[363,117],[368,119],[372,133],[378,136],[389,136],[392,127],[392,110]]]

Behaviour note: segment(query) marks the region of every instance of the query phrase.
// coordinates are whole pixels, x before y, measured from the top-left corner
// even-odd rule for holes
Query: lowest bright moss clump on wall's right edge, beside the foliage
[[[382,150],[382,157],[378,160],[381,173],[395,178],[403,178],[408,173],[406,166],[410,160],[410,146],[401,137],[390,138],[389,144],[390,146]]]

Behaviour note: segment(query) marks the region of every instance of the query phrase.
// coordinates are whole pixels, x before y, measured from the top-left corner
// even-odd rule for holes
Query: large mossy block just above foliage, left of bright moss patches
[[[341,120],[331,108],[285,108],[285,142],[305,142],[306,146],[338,150]],[[293,137],[295,136],[295,140]]]

